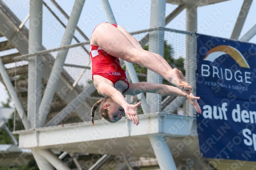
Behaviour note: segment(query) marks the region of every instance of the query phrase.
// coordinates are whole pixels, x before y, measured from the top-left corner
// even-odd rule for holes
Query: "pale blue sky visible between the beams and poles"
[[[70,15],[74,5],[74,0],[55,0],[63,10]],[[3,0],[3,2],[15,13],[20,19],[24,20],[29,13],[29,0]],[[68,20],[57,10],[50,0],[45,3],[56,13],[56,15],[67,25]],[[149,0],[109,0],[112,11],[115,15],[118,25],[125,28],[128,32],[148,29],[150,27],[150,1]],[[18,4],[19,3],[19,4]],[[222,3],[198,7],[198,33],[211,36],[230,38],[232,30],[238,18],[242,7],[242,0],[232,0]],[[166,4],[166,16],[171,13],[177,5]],[[256,1],[252,2],[249,13],[245,20],[240,37],[249,31],[256,24]],[[78,21],[78,27],[91,37],[93,29],[101,22],[108,21],[105,11],[101,6],[100,0],[86,0],[83,6],[81,16]],[[29,20],[25,26],[29,28]],[[185,10],[176,18],[168,23],[166,28],[185,31]],[[43,8],[43,45],[47,48],[59,47],[65,29],[52,16],[52,14]],[[79,41],[84,38],[77,32],[75,33]],[[4,39],[3,39],[4,40]],[[2,41],[0,39],[0,41]],[[256,36],[249,42],[256,43]],[[76,41],[72,41],[72,44]],[[4,54],[0,53],[0,56]],[[8,65],[6,65],[8,67]],[[0,83],[0,106],[8,98],[7,91],[3,84]],[[12,104],[13,106],[13,104]]]

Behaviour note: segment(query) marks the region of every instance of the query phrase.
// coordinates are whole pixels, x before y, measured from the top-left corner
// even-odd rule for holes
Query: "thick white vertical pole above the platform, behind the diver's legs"
[[[165,27],[165,5],[166,1],[151,1],[150,28]],[[164,31],[154,31],[150,33],[148,51],[163,56]],[[159,68],[160,69],[160,68]],[[162,84],[163,78],[156,72],[147,69],[147,82]],[[150,106],[150,112],[161,111],[162,96],[154,93],[146,93],[146,102]]]

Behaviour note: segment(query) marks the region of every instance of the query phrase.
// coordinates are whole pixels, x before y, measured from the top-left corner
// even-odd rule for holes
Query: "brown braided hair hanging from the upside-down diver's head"
[[[109,118],[109,113],[108,113],[108,110],[104,109],[103,106],[104,104],[106,103],[106,101],[108,100],[109,98],[104,98],[104,99],[101,99],[99,101],[97,101],[93,107],[92,107],[92,110],[91,110],[91,115],[92,115],[92,124],[94,125],[94,120],[93,120],[93,117],[94,117],[94,114],[95,114],[95,111],[99,108],[99,115],[100,117],[103,117],[104,119],[108,120],[109,122],[111,122],[110,118]],[[94,125],[95,126],[95,125]]]

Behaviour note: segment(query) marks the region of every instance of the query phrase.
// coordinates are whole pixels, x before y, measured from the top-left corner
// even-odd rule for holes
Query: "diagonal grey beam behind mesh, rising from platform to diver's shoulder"
[[[84,89],[72,102],[70,102],[65,108],[63,108],[56,116],[54,116],[46,126],[58,125],[63,118],[71,113],[75,108],[90,96],[96,90],[94,84],[91,84],[88,88]]]

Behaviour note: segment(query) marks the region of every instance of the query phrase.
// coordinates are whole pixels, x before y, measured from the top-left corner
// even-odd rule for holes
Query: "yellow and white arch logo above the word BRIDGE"
[[[208,51],[203,60],[214,62],[218,57],[228,54],[236,61],[240,67],[250,68],[244,56],[234,47],[228,45],[219,45]]]

